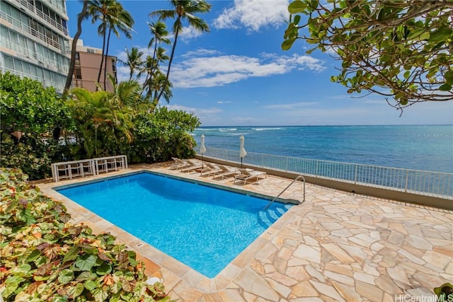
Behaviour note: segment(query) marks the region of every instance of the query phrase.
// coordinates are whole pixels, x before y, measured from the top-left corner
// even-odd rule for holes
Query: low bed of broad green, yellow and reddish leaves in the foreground
[[[144,263],[107,233],[69,223],[17,169],[0,169],[0,289],[4,301],[168,301]]]

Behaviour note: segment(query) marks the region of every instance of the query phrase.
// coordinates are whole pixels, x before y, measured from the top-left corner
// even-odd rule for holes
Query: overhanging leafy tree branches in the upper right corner
[[[283,50],[302,39],[343,61],[332,81],[402,109],[453,100],[452,1],[295,0]]]

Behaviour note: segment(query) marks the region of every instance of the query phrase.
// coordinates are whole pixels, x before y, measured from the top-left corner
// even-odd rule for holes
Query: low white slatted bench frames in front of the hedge
[[[86,175],[98,175],[100,173],[127,169],[127,156],[119,155],[82,159],[80,161],[64,161],[52,163],[51,168],[52,178],[55,182],[76,177],[84,178]]]

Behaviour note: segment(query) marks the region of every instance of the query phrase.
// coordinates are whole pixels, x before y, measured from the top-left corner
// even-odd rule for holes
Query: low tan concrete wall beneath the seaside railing
[[[201,158],[201,156],[196,156],[196,158]],[[211,158],[204,156],[203,159],[205,161],[210,161],[212,163],[219,163],[223,165],[231,165],[239,167],[239,163],[231,162],[231,161],[224,161],[219,158]],[[256,167],[254,165],[243,165],[243,168],[252,168],[260,171],[265,171],[270,175],[280,176],[282,178],[289,178],[294,179],[299,173],[290,173],[285,172],[282,170],[274,170],[270,168],[261,168]],[[433,196],[425,196],[421,194],[414,194],[411,192],[403,192],[398,190],[390,190],[384,187],[371,187],[367,185],[359,185],[352,182],[343,182],[339,180],[333,179],[326,179],[326,178],[317,178],[314,176],[304,175],[306,182],[311,183],[313,185],[321,185],[323,187],[331,187],[336,190],[342,190],[346,192],[353,192],[357,194],[364,194],[373,197],[379,197],[384,199],[391,199],[396,200],[398,202],[408,202],[411,204],[423,204],[428,207],[436,207],[440,209],[447,209],[453,211],[453,200],[440,198],[440,197],[433,197]]]

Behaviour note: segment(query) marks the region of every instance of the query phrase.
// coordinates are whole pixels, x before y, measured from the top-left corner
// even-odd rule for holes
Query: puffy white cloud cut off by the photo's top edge
[[[268,25],[277,28],[288,17],[288,0],[234,0],[231,8],[226,8],[214,20],[215,28],[240,28],[258,31]]]

